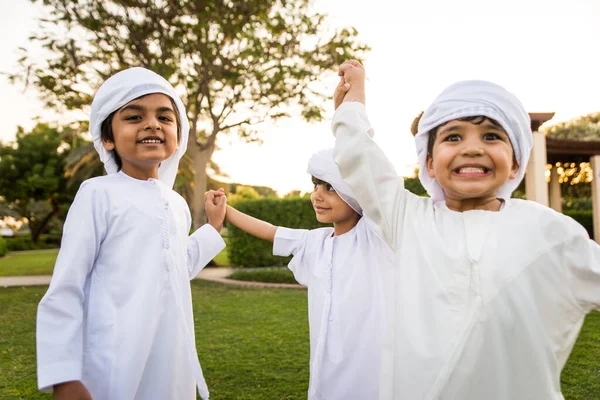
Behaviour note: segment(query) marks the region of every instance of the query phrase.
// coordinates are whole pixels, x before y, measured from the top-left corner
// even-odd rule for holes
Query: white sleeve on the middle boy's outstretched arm
[[[310,281],[310,260],[306,252],[309,232],[307,229],[290,229],[280,226],[277,228],[273,240],[274,256],[294,255],[288,268],[294,273],[296,281],[304,286],[308,286]]]

